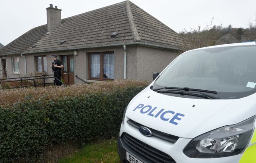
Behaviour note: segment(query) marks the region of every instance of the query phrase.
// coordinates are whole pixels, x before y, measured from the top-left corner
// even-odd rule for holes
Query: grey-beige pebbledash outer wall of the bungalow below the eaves
[[[47,74],[52,73],[52,54],[60,56],[73,55],[74,56],[74,75],[87,80],[88,74],[88,53],[94,52],[114,52],[115,59],[115,79],[124,78],[124,49],[122,46],[96,48],[77,50],[78,55],[74,56],[74,50],[64,52],[50,52],[50,53],[32,53],[24,54],[27,62],[27,75],[36,71],[35,56],[47,57]],[[168,64],[171,63],[180,53],[174,50],[164,50],[143,46],[126,46],[126,79],[147,80],[152,81],[152,74],[154,72],[161,72]],[[19,74],[12,73],[11,57],[19,57]],[[25,59],[19,56],[7,56],[7,76],[8,78],[24,77],[25,76]],[[75,83],[83,83],[78,78],[74,78]],[[90,81],[92,82],[92,81]]]

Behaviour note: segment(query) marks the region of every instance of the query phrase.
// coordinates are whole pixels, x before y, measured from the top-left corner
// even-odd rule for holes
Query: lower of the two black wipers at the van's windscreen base
[[[156,92],[158,92],[158,93],[174,93],[174,94],[179,94],[179,95],[197,96],[197,97],[202,97],[202,98],[205,98],[205,99],[219,99],[219,97],[210,96],[210,95],[204,94],[202,92],[186,92],[186,91],[175,91],[175,90],[156,91]]]

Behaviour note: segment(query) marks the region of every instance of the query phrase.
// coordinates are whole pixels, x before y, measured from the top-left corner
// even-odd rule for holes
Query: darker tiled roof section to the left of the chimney
[[[20,54],[36,43],[46,32],[47,25],[33,28],[0,49],[0,55]]]

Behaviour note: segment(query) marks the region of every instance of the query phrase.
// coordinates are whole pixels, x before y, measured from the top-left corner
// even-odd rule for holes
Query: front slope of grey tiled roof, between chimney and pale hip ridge
[[[113,32],[119,34],[111,38]],[[63,39],[67,42],[60,44]],[[44,35],[36,43],[37,46],[26,53],[124,44],[132,40],[125,3],[122,2],[63,19],[57,28]]]

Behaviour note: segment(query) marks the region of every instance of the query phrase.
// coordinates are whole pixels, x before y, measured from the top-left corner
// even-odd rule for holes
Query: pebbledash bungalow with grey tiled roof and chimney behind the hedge
[[[31,29],[0,50],[7,77],[51,70],[58,55],[66,84],[113,79],[152,81],[181,53],[182,36],[126,0],[61,19],[57,7],[46,8],[47,24]],[[76,78],[75,76],[79,77]]]

